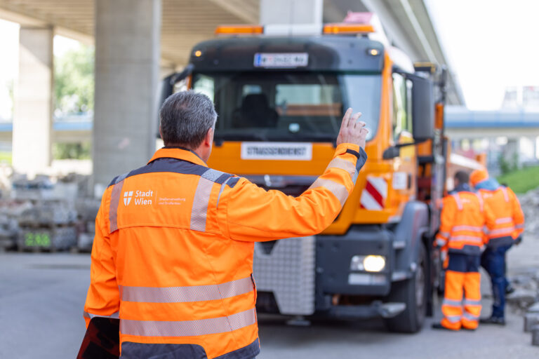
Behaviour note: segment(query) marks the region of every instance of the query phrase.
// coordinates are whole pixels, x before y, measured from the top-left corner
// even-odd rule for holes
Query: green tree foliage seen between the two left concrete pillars
[[[54,58],[55,112],[93,111],[94,50],[80,45]]]

